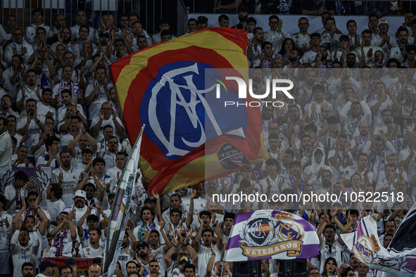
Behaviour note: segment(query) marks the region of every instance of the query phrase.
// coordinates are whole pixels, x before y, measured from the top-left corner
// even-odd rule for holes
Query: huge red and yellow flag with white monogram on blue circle
[[[146,124],[139,167],[151,180],[149,191],[168,193],[268,157],[260,108],[251,108],[250,115],[241,106],[224,110],[211,101],[215,97],[206,96],[215,96],[218,88],[213,83],[207,89],[206,70],[217,70],[218,78],[210,80],[229,89],[223,100],[237,97],[237,82],[225,82],[219,69],[247,70],[246,45],[245,31],[212,27],[111,65],[130,141],[137,138],[137,127]]]

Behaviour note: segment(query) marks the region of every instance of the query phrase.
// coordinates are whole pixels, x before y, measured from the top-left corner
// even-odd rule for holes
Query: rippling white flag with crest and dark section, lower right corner
[[[354,233],[341,234],[348,250],[383,276],[415,276],[416,272],[416,204],[398,227],[389,247],[384,248],[377,235],[377,223],[370,216],[361,219]]]

